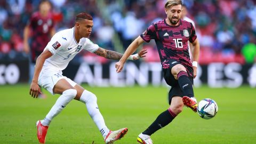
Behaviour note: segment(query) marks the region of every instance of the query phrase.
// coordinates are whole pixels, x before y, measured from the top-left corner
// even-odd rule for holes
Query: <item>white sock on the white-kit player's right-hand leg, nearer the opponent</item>
[[[85,103],[89,115],[91,116],[94,123],[100,130],[101,135],[105,139],[107,137],[107,134],[109,133],[109,129],[107,128],[103,116],[101,115],[100,110],[98,108],[97,97],[95,96],[95,94],[87,90],[84,90],[80,97],[80,101]]]

